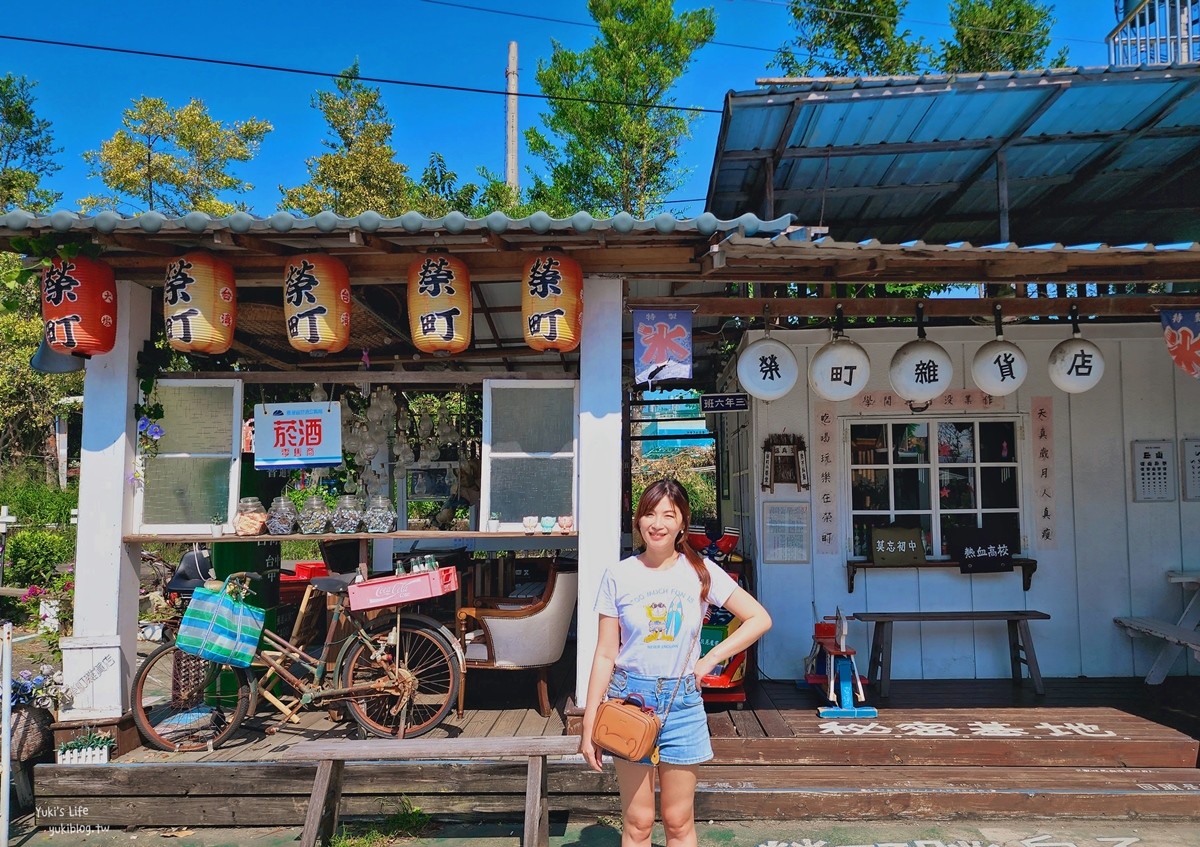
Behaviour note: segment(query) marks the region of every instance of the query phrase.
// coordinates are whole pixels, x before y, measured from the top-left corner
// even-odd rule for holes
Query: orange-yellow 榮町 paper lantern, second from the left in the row
[[[238,323],[233,265],[200,251],[172,262],[162,287],[162,317],[173,350],[209,355],[227,352]]]

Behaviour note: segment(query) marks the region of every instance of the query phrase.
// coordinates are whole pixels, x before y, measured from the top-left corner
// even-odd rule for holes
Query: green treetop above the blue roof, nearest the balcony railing
[[[1066,67],[1066,47],[1046,62],[1054,25],[1054,6],[1036,0],[953,0],[954,40],[942,41],[937,65],[946,73]]]

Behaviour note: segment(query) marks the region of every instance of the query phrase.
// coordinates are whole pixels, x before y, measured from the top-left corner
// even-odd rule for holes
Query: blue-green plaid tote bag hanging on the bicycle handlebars
[[[263,609],[229,594],[228,579],[218,591],[197,588],[175,645],[200,659],[250,667],[263,635]]]

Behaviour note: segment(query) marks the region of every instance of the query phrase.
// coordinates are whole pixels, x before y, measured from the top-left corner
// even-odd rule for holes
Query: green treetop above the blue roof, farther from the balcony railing
[[[880,77],[919,73],[930,48],[900,28],[908,0],[788,0],[799,35],[772,67],[788,77]]]

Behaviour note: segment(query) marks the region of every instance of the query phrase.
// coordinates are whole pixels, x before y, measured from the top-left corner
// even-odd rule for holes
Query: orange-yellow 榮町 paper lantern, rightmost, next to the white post
[[[560,253],[542,253],[521,275],[521,323],[526,344],[566,353],[580,346],[583,324],[583,272]]]

